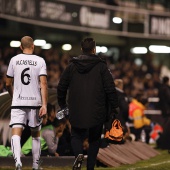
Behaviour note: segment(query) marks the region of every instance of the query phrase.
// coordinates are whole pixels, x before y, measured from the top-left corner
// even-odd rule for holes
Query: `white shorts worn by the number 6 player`
[[[41,125],[42,118],[39,118],[39,109],[11,109],[11,120],[9,126],[27,124],[31,128]]]

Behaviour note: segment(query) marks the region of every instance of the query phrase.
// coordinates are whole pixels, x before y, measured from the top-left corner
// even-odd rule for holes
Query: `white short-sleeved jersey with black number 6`
[[[14,78],[12,108],[42,105],[39,76],[47,75],[43,58],[32,54],[19,54],[9,63],[7,77]]]

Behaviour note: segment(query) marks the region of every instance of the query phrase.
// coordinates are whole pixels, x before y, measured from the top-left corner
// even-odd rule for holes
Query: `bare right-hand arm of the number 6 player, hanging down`
[[[42,97],[42,107],[40,108],[39,116],[42,117],[47,113],[47,100],[48,100],[47,77],[45,75],[40,76],[40,88]]]

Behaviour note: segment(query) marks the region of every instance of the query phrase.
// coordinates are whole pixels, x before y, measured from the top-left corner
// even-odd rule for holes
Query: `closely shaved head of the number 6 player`
[[[29,36],[22,37],[22,39],[21,39],[22,50],[32,49],[33,46],[34,46],[34,42],[33,42],[33,39],[31,37],[29,37]]]

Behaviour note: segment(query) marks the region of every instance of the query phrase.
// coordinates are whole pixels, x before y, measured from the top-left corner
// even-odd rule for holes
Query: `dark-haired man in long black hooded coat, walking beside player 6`
[[[93,38],[81,42],[82,55],[71,60],[57,87],[58,104],[66,107],[68,90],[71,145],[75,157],[83,154],[83,140],[88,138],[87,170],[93,170],[99,150],[108,102],[111,113],[116,113],[118,98],[113,78],[106,62],[95,55]]]

